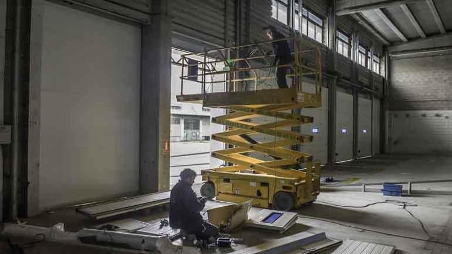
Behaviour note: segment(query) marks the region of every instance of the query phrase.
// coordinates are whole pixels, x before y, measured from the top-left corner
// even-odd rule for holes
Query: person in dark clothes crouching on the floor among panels
[[[207,199],[196,197],[192,189],[196,172],[185,168],[180,173],[179,182],[170,194],[170,226],[181,229],[186,234],[193,234],[200,240],[208,240],[218,235],[218,228],[202,219],[200,211]]]

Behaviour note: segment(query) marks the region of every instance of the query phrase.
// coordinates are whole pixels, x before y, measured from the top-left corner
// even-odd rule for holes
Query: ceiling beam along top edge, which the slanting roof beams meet
[[[392,5],[408,4],[421,0],[343,0],[336,3],[336,15],[342,16],[367,10],[386,8]],[[360,4],[356,4],[359,2]]]

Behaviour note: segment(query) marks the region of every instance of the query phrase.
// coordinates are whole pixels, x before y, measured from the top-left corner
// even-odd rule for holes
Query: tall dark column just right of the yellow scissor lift
[[[335,75],[337,64],[336,50],[336,1],[330,1],[328,9],[328,72]],[[336,153],[336,93],[337,93],[337,77],[329,77],[328,79],[328,165],[335,163]]]

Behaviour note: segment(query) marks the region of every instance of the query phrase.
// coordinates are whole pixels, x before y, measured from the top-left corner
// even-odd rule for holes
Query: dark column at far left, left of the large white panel
[[[5,171],[10,175],[9,196],[4,198],[11,220],[27,215],[30,13],[30,0],[7,1],[4,120],[11,125],[12,140],[4,146],[3,154]]]

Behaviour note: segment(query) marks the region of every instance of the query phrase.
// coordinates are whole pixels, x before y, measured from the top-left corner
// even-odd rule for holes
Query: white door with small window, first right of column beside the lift
[[[346,133],[342,133],[346,129]],[[336,94],[336,157],[335,161],[353,159],[353,95]]]

